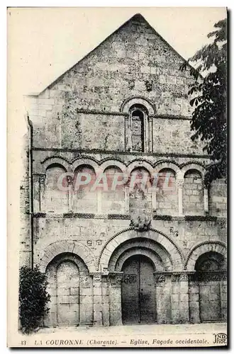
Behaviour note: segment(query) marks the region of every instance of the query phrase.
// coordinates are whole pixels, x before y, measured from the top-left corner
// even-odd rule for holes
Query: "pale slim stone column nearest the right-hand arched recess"
[[[189,323],[189,275],[179,275],[179,322]]]

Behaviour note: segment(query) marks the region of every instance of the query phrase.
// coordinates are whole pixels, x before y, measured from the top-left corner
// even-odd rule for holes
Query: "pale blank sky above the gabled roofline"
[[[9,84],[40,93],[135,13],[141,13],[184,59],[208,42],[221,7],[10,8]]]

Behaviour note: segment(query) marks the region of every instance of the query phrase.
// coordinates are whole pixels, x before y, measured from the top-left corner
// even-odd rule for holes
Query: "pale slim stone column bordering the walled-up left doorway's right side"
[[[94,326],[102,326],[101,273],[93,273]]]

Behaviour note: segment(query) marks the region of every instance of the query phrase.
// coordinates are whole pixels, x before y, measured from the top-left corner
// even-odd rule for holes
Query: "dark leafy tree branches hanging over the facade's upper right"
[[[182,64],[183,71],[189,63],[194,84],[189,87],[194,107],[191,118],[191,139],[204,141],[204,151],[211,155],[205,183],[216,178],[226,178],[227,170],[227,21],[221,20],[208,33],[212,42],[204,45]]]

